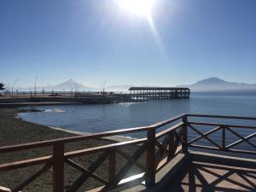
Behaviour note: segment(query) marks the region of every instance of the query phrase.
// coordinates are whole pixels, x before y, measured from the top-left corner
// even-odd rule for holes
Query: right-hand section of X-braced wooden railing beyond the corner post
[[[253,125],[231,125],[231,124],[223,124],[223,123],[212,123],[212,122],[197,122],[190,120],[187,122],[187,127],[190,131],[194,131],[198,134],[198,137],[195,137],[188,141],[187,146],[190,148],[202,148],[202,149],[210,149],[210,150],[217,150],[223,152],[233,152],[233,153],[241,153],[241,154],[256,154],[256,140],[254,143],[250,140],[256,136],[256,126],[255,120],[256,118],[248,118],[248,117],[230,117],[230,116],[217,116],[217,115],[200,115],[200,114],[187,114],[189,118],[204,118],[204,119],[235,119],[235,120],[250,120],[254,121]],[[208,130],[207,132],[203,133],[201,128],[196,128],[196,126],[201,127],[214,127]],[[242,130],[242,132],[238,132],[236,130]],[[246,134],[249,132],[247,136],[242,136],[241,134]],[[212,134],[218,133],[218,141],[217,143],[214,139],[211,138]],[[231,143],[227,143],[227,135],[233,135],[233,141]],[[215,136],[216,137],[216,136]],[[238,140],[237,140],[237,139]],[[195,144],[196,142],[205,139],[208,143],[211,143],[212,146],[209,145],[202,145],[202,144]],[[237,149],[239,144],[246,143],[247,147],[251,148],[248,150],[244,149]]]

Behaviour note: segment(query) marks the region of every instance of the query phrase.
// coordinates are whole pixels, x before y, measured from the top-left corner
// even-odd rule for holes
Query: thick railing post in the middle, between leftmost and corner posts
[[[148,146],[147,146],[147,173],[146,186],[153,186],[155,184],[155,129],[148,130]]]

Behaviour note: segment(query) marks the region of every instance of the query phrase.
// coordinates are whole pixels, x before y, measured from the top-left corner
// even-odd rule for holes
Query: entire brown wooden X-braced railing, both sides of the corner
[[[38,157],[29,160],[20,160],[11,163],[0,165],[0,172],[6,172],[10,170],[20,169],[23,167],[42,165],[38,172],[33,173],[31,176],[26,177],[23,181],[13,186],[11,189],[0,187],[0,191],[12,191],[18,192],[24,189],[29,183],[32,183],[37,177],[40,177],[42,173],[53,169],[53,191],[64,191],[64,164],[72,166],[79,170],[83,174],[66,190],[68,192],[77,191],[88,178],[92,177],[99,183],[102,183],[102,187],[96,189],[96,191],[104,189],[113,189],[120,185],[131,182],[146,183],[146,186],[154,185],[155,175],[159,172],[170,160],[172,160],[177,154],[183,152],[188,153],[188,148],[204,148],[210,150],[219,150],[225,152],[237,152],[244,154],[256,154],[255,143],[250,140],[256,136],[256,126],[254,125],[227,125],[209,122],[196,122],[190,119],[193,118],[211,118],[211,119],[242,119],[242,120],[256,120],[256,118],[245,117],[229,117],[229,116],[213,116],[213,115],[199,115],[199,114],[182,114],[172,119],[167,119],[160,123],[137,127],[118,131],[108,131],[96,134],[90,134],[86,136],[67,137],[55,140],[48,140],[37,143],[25,143],[14,146],[7,146],[0,148],[0,155],[3,153],[10,153],[15,151],[23,151],[32,148],[44,148],[53,147],[51,155]],[[217,126],[216,128],[203,133],[200,128],[195,128],[195,125]],[[163,131],[159,131],[160,127],[164,126]],[[166,128],[166,126],[170,128]],[[236,128],[250,129],[254,132],[247,137],[241,136],[234,131]],[[99,139],[103,137],[110,137],[116,135],[124,135],[135,132],[146,132],[147,137],[131,140],[128,142],[111,143],[108,145],[84,148],[75,151],[65,152],[65,144],[84,141],[88,139]],[[199,136],[190,138],[191,131],[195,131]],[[216,143],[211,134],[216,131],[222,131],[221,144]],[[227,131],[239,137],[239,140],[226,144]],[[195,145],[196,142],[205,138],[209,143],[212,143],[214,147],[205,145]],[[240,143],[249,144],[253,150],[238,150],[234,149]],[[134,154],[125,154],[121,149],[127,146],[136,145],[137,149]],[[87,154],[99,154],[97,160],[95,160],[89,167],[79,165],[72,160],[73,157],[78,157]],[[116,155],[119,154],[127,162],[122,166],[119,171],[116,169]],[[146,154],[146,161],[144,163],[138,162],[138,159]],[[102,162],[108,160],[108,180],[95,173],[96,169],[102,165]],[[126,173],[131,170],[132,166],[137,166],[141,173],[133,177],[125,177]],[[107,170],[106,170],[107,171]]]

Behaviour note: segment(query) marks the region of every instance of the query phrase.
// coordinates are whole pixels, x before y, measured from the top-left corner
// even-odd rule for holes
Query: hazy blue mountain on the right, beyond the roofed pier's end
[[[209,78],[195,84],[183,85],[191,90],[256,90],[256,84],[228,82],[223,79]]]

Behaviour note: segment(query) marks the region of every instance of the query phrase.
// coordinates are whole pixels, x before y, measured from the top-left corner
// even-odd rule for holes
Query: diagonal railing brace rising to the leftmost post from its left
[[[31,176],[27,177],[23,181],[21,181],[19,184],[17,184],[13,189],[11,189],[11,192],[19,192],[23,188],[26,187],[29,183],[32,183],[36,178],[38,178],[42,173],[49,170],[49,168],[52,166],[52,162],[48,162],[45,164],[38,172],[33,173]]]

